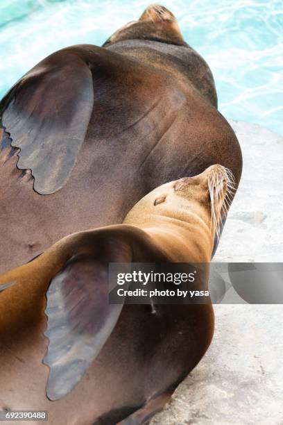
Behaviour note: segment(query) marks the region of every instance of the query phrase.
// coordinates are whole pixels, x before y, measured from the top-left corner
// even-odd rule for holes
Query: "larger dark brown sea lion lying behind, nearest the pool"
[[[68,47],[0,103],[0,272],[66,235],[118,224],[144,194],[241,149],[214,80],[162,6],[104,47]]]

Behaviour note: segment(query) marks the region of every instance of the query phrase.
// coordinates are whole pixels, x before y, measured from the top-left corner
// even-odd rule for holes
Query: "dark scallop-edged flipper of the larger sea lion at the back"
[[[92,72],[68,49],[23,76],[0,103],[0,124],[20,148],[19,169],[31,169],[34,190],[56,192],[67,182],[93,107]]]

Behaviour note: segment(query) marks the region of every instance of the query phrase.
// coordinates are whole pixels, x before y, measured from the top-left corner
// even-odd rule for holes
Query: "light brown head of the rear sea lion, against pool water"
[[[187,46],[177,19],[170,10],[160,5],[148,6],[138,21],[129,22],[120,28],[108,38],[103,47],[122,40],[152,40]]]

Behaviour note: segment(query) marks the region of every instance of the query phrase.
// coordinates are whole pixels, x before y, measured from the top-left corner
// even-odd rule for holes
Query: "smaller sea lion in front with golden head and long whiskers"
[[[2,275],[0,409],[112,425],[162,408],[209,347],[212,305],[110,304],[108,263],[209,262],[232,190],[214,165],[153,190],[123,224],[69,235]]]

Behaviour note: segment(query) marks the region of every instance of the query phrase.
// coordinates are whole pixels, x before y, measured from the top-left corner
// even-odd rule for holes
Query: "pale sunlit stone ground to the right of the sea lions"
[[[230,122],[243,174],[214,261],[283,261],[283,138]],[[283,306],[216,305],[214,339],[151,425],[282,425]]]

